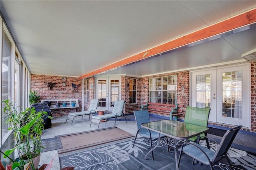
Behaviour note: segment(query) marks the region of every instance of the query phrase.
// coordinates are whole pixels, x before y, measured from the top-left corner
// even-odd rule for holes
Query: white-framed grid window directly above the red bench
[[[177,103],[177,75],[149,79],[149,102]]]

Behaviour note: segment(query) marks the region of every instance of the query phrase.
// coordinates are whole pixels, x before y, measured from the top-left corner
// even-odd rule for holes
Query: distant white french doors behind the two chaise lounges
[[[115,101],[121,100],[121,77],[97,77],[96,98],[101,109],[112,111]]]

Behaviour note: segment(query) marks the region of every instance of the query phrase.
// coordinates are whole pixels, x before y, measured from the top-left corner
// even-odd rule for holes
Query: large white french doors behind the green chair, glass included
[[[242,65],[191,74],[190,105],[210,107],[209,121],[250,126],[250,67]]]

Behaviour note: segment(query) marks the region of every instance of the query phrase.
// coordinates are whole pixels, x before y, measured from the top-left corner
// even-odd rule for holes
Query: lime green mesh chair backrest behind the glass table
[[[210,110],[210,108],[188,106],[186,109],[184,122],[207,127]]]

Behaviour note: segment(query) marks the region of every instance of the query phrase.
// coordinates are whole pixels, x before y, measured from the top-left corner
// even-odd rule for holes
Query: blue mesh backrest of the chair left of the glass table
[[[148,110],[133,111],[137,129],[141,128],[142,123],[150,122]],[[148,133],[148,130],[141,129],[140,133]]]

